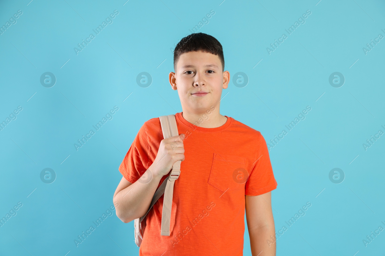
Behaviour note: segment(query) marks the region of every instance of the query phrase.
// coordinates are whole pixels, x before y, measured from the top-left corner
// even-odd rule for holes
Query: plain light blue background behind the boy
[[[367,247],[362,241],[385,228],[385,135],[366,151],[362,145],[385,132],[385,40],[367,55],[362,50],[385,36],[383,1],[125,2],[0,3],[0,25],[23,12],[0,35],[0,121],[23,107],[0,131],[0,216],[23,203],[0,227],[1,255],[138,255],[133,223],[115,212],[79,247],[74,239],[112,205],[118,167],[142,124],[182,111],[168,82],[172,50],[210,10],[215,15],[199,32],[221,42],[232,77],[249,79],[244,88],[231,81],[221,114],[269,142],[311,106],[269,152],[276,230],[311,202],[278,237],[277,255],[383,255],[385,231]],[[74,47],[114,10],[113,23],[76,55]],[[306,10],[305,24],[288,35]],[[288,38],[269,55],[283,33]],[[45,72],[57,79],[52,88],[40,84]],[[136,83],[141,72],[152,76],[148,88]],[[342,87],[329,84],[333,72],[345,76]],[[74,143],[114,106],[113,119],[76,151]],[[346,175],[340,184],[328,177],[336,167]],[[40,180],[44,168],[55,171],[53,183]],[[251,255],[247,228],[244,238]]]

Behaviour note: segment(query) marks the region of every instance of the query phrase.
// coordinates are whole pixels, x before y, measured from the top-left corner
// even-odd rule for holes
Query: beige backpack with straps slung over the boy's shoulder
[[[160,116],[159,119],[161,121],[161,127],[162,127],[164,139],[179,135],[178,128],[176,126],[175,115]],[[161,236],[170,235],[172,194],[174,192],[174,182],[175,180],[177,180],[177,178],[179,178],[179,174],[181,173],[180,169],[181,169],[181,160],[178,160],[171,167],[170,175],[162,182],[162,185],[156,190],[154,197],[152,197],[151,205],[147,210],[147,213],[149,213],[152,206],[154,206],[156,201],[164,193]],[[138,247],[141,246],[144,230],[146,228],[147,213],[141,218],[137,218],[134,220],[135,243]]]

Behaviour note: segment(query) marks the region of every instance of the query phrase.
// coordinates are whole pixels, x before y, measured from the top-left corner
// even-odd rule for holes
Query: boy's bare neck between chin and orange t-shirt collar
[[[206,111],[203,111],[202,113],[182,111],[182,117],[191,124],[195,124],[197,121],[199,121],[199,119],[203,119],[204,121],[199,125],[199,127],[203,128],[220,127],[223,126],[227,121],[227,117],[222,116],[219,113],[219,107],[214,111],[211,111],[210,114],[208,114]]]

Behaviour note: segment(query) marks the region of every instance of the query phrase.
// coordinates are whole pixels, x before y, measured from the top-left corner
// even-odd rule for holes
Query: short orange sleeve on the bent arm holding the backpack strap
[[[134,183],[147,170],[148,163],[148,142],[146,135],[146,123],[142,125],[124,157],[119,172],[127,181]]]

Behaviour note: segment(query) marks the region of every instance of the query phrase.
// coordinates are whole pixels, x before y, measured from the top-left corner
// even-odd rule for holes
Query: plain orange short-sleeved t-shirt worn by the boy
[[[243,255],[245,195],[277,186],[266,141],[232,117],[226,116],[223,126],[203,128],[186,121],[182,112],[175,116],[179,134],[187,137],[174,184],[170,236],[161,236],[162,195],[146,217],[139,255]],[[162,139],[158,117],[139,129],[119,167],[129,182],[150,167]]]

